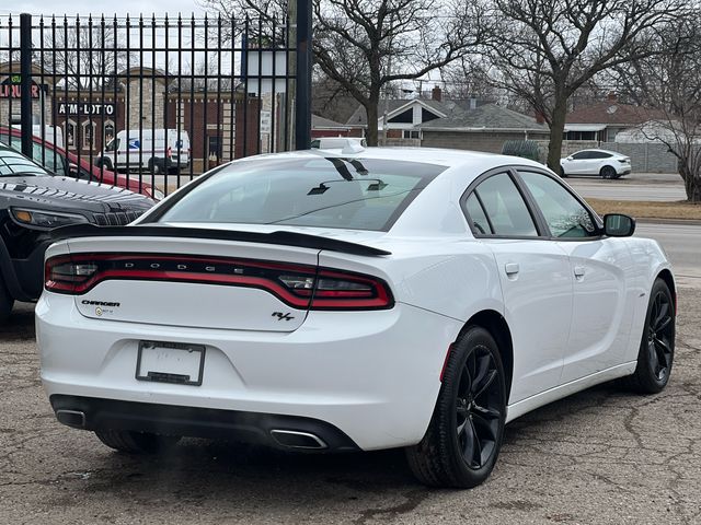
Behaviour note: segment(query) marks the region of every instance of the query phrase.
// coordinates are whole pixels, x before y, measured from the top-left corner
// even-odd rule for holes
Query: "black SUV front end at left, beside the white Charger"
[[[42,294],[49,230],[81,222],[127,224],[151,206],[123,188],[54,176],[0,143],[0,323],[14,301]]]

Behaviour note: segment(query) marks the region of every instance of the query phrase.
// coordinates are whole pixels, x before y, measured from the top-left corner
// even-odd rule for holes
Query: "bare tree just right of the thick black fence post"
[[[287,13],[285,0],[203,0],[227,15],[264,20]],[[313,0],[313,52],[323,73],[367,113],[367,140],[378,141],[386,86],[418,79],[476,49],[489,34],[471,0]]]

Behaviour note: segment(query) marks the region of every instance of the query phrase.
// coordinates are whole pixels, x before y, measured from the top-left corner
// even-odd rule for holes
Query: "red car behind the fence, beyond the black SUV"
[[[12,137],[10,142],[9,137]],[[22,130],[16,128],[8,128],[0,126],[0,142],[9,144],[18,151],[21,150]],[[163,192],[154,186],[146,182],[139,183],[126,175],[116,174],[99,166],[93,166],[89,162],[89,158],[81,156],[66,151],[48,140],[42,142],[41,137],[32,137],[34,148],[32,150],[32,159],[39,165],[43,165],[49,172],[56,175],[81,178],[84,180],[93,180],[120,188],[130,189],[134,192],[146,195],[153,200],[164,198]]]

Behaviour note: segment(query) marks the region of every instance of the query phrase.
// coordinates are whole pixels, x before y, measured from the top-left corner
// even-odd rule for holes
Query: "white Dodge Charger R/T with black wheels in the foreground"
[[[524,159],[242,159],[134,225],[56,233],[42,381],[60,422],[119,451],[406,447],[420,480],[473,487],[519,416],[667,384],[675,282],[634,226]]]

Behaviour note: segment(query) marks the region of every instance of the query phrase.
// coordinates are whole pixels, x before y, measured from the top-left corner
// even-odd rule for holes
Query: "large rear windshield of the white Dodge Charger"
[[[234,163],[166,203],[157,222],[387,231],[445,166],[376,159]]]

